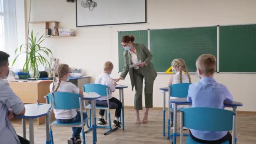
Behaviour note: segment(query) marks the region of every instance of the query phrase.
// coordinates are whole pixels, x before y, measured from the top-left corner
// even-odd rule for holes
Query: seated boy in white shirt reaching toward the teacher
[[[115,127],[121,128],[120,122],[119,122],[119,117],[121,115],[121,110],[122,110],[122,102],[116,99],[115,97],[112,97],[112,92],[115,91],[115,86],[117,83],[114,83],[112,78],[109,76],[113,70],[113,64],[110,61],[106,61],[104,64],[104,72],[99,75],[95,83],[97,84],[102,84],[102,85],[107,85],[109,87],[109,108],[110,109],[116,109],[115,110],[115,120],[113,120],[112,125]],[[107,96],[103,96],[99,99],[96,100],[96,105],[99,107],[107,107]],[[100,125],[106,125],[107,122],[104,120],[104,109],[101,109],[99,111],[99,121],[98,124]]]

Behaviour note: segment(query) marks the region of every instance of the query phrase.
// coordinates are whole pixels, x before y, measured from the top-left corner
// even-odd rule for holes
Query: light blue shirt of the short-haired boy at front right
[[[187,101],[192,102],[192,107],[224,109],[224,101],[231,103],[233,96],[225,85],[217,83],[214,78],[203,77],[198,83],[189,85]],[[227,135],[227,131],[210,132],[193,129],[190,131],[196,138],[208,141],[218,140]]]

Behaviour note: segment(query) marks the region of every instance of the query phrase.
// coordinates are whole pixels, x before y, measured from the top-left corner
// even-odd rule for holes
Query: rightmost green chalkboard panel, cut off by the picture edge
[[[221,26],[220,72],[256,72],[256,24]]]

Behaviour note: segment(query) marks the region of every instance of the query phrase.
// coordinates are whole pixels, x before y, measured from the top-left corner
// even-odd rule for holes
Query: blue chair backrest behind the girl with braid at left
[[[51,93],[47,96],[48,104],[51,103]],[[80,108],[80,94],[56,92],[52,95],[53,109],[78,109]]]

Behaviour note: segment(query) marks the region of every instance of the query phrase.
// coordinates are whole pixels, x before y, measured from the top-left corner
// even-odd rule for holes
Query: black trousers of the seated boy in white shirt
[[[88,101],[88,103],[91,104],[91,101]],[[107,107],[107,100],[96,100],[96,106]],[[111,99],[109,99],[109,109],[115,109],[115,117],[120,117],[122,111],[122,102],[112,97]],[[104,113],[104,109],[99,110],[99,115],[104,115]]]

